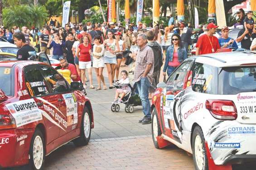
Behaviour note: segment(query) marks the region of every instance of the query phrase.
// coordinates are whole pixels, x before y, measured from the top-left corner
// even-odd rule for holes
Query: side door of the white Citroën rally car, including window
[[[184,84],[188,78],[192,61],[182,63],[166,81],[166,87],[161,97],[161,117],[164,134],[177,142],[182,142],[182,129],[180,124],[180,102],[184,93]]]

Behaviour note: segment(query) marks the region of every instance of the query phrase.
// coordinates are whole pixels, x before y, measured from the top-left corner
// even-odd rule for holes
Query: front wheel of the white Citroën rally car
[[[160,124],[159,124],[159,120],[157,117],[157,111],[154,107],[153,112],[152,112],[152,122],[151,122],[151,129],[152,129],[152,138],[153,138],[153,142],[156,148],[159,149],[159,145],[158,145],[158,141],[157,138],[158,136],[160,136],[162,134],[161,129],[160,129]]]

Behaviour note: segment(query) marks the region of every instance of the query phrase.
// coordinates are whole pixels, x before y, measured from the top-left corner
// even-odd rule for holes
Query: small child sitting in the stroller
[[[115,100],[113,103],[121,103],[122,99],[124,98],[124,96],[130,92],[130,87],[128,86],[129,84],[129,78],[128,78],[128,73],[126,70],[122,70],[121,71],[121,77],[122,79],[117,81],[116,83],[121,85],[121,88],[116,89],[116,96],[115,96]],[[121,94],[119,100],[117,99],[119,94]]]

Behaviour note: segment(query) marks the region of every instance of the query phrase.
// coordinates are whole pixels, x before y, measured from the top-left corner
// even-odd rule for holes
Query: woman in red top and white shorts
[[[81,43],[77,47],[77,57],[79,60],[79,69],[81,70],[81,78],[82,83],[86,84],[85,79],[85,69],[87,69],[89,80],[90,80],[90,88],[94,88],[92,86],[92,60],[91,60],[91,42],[89,41],[89,37],[87,35],[83,36],[83,43]]]

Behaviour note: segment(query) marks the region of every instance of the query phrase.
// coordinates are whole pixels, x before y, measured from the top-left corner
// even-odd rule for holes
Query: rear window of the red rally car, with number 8
[[[14,83],[10,67],[0,67],[0,89],[6,96],[13,96]]]

